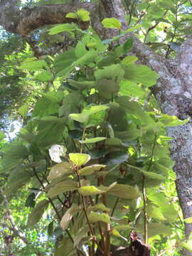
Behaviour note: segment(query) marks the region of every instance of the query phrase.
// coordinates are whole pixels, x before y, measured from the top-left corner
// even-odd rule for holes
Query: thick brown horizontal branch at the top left
[[[75,18],[65,18],[66,14],[77,11],[78,9],[87,9],[87,11],[93,13],[95,11],[95,5],[90,3],[80,3],[78,5],[49,4],[33,8],[25,7],[19,10],[13,0],[9,4],[1,1],[0,9],[0,25],[11,33],[27,36],[31,31],[45,25],[77,23],[78,20]],[[88,22],[79,22],[80,26],[84,28],[89,24]]]

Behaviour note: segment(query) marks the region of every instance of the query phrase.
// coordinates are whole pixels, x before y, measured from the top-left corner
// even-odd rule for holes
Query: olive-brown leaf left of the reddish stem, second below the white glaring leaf
[[[56,183],[53,188],[50,188],[48,191],[48,197],[57,196],[60,193],[65,193],[67,191],[75,191],[78,189],[78,185],[75,181],[61,181],[59,183]]]

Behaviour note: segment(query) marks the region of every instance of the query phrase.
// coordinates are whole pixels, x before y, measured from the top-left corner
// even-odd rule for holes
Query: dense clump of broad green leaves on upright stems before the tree
[[[89,20],[83,9],[68,14],[74,16]],[[97,247],[107,255],[110,245],[127,247],[132,230],[151,245],[151,255],[163,249],[179,255],[190,241],[181,240],[172,138],[165,129],[188,121],[161,114],[149,90],[158,76],[127,55],[132,38],[119,45],[138,26],[122,31],[116,18],[102,24],[119,36],[102,41],[91,27],[61,24],[49,34],[67,31],[76,45],[54,57],[26,58],[18,67],[44,92],[34,107],[18,109],[23,128],[16,138],[6,143],[1,134],[5,193],[27,191],[29,230],[47,216],[55,256],[95,255]],[[14,253],[36,255],[36,245]]]

